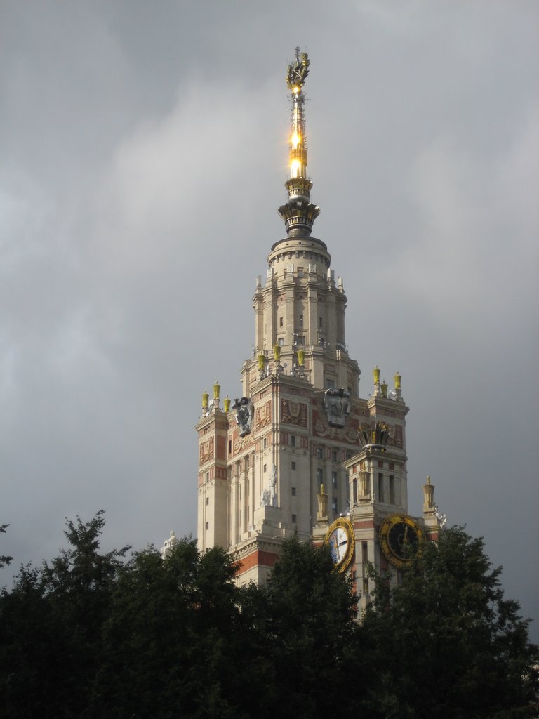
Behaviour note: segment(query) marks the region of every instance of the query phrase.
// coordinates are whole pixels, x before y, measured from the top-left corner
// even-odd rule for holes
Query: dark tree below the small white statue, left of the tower
[[[96,708],[153,718],[237,716],[231,690],[249,654],[237,594],[222,549],[200,557],[195,541],[183,539],[165,562],[153,548],[135,554],[104,626]]]

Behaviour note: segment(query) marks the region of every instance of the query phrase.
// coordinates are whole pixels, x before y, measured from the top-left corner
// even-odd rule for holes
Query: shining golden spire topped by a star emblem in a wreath
[[[295,49],[295,60],[288,65],[286,82],[292,95],[292,130],[290,132],[290,179],[286,181],[288,201],[279,208],[285,221],[287,234],[292,236],[310,234],[320,208],[310,201],[313,183],[307,177],[307,137],[305,135],[305,112],[303,85],[309,73],[306,52]]]

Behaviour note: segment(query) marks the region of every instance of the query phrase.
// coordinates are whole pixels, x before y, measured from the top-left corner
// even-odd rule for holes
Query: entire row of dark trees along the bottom
[[[428,544],[358,620],[325,547],[286,541],[267,584],[238,587],[193,539],[103,553],[103,514],[0,594],[0,715],[11,718],[511,719],[536,715],[538,650],[482,540]],[[535,713],[534,713],[535,712]]]

